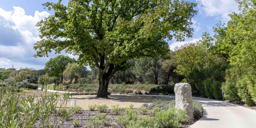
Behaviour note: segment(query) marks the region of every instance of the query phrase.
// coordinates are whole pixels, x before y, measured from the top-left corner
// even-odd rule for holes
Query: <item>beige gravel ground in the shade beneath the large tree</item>
[[[134,108],[140,108],[144,103],[152,103],[153,100],[173,100],[173,98],[166,97],[152,97],[152,96],[117,96],[109,95],[109,99],[96,98],[96,95],[75,95],[71,99],[76,99],[77,106],[84,109],[89,109],[90,104],[107,104],[109,107],[118,104],[121,108],[128,107],[131,103],[134,104]],[[74,103],[73,103],[74,104]],[[68,104],[69,106],[70,104]]]

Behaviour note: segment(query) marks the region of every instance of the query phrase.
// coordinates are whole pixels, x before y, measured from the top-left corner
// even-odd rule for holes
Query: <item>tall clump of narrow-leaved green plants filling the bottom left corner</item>
[[[66,110],[68,93],[63,97],[47,92],[41,96],[25,96],[14,90],[16,87],[0,89],[0,124],[3,128],[33,128],[35,124],[42,128],[57,128],[72,112],[72,109]],[[57,107],[65,109],[66,113],[58,114]]]

